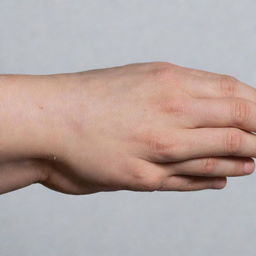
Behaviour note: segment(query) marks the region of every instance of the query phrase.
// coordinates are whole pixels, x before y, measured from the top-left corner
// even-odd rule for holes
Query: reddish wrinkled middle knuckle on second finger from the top
[[[250,106],[242,100],[235,100],[231,104],[231,118],[233,123],[237,126],[245,124],[250,117]]]

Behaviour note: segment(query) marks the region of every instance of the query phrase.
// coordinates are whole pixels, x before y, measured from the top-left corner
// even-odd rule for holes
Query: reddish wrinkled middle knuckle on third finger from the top
[[[238,129],[230,129],[225,138],[225,147],[228,154],[239,154],[242,146],[242,132]]]

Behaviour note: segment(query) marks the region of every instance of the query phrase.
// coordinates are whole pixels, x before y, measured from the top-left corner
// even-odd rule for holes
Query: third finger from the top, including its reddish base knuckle
[[[218,156],[256,157],[256,135],[237,128],[184,129],[161,140],[152,138],[148,142],[149,161],[167,163]]]

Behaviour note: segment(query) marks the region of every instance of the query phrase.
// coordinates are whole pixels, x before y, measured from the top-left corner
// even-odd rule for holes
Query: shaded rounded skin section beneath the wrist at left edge
[[[0,194],[29,186],[44,179],[44,167],[33,160],[0,165]]]

